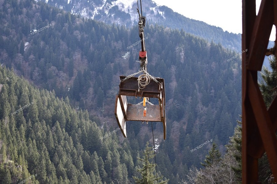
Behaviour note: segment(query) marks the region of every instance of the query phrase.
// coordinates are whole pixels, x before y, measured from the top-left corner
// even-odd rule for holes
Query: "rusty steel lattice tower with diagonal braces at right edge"
[[[242,50],[249,50],[242,54],[243,184],[259,183],[258,158],[264,151],[267,152],[275,182],[277,181],[277,98],[267,110],[257,84],[257,71],[261,70],[263,64],[272,25],[277,24],[277,0],[262,0],[257,16],[255,6],[255,0],[242,1]]]

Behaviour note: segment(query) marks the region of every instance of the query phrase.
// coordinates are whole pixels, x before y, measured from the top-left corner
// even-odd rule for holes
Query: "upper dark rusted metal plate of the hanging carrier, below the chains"
[[[125,79],[126,76],[120,76],[120,80]],[[139,89],[138,78],[131,77],[119,84],[119,95],[126,96],[139,96],[139,97],[149,97],[149,98],[162,98],[164,94],[164,79],[157,78],[160,84],[153,80],[150,80],[149,84],[145,88]]]

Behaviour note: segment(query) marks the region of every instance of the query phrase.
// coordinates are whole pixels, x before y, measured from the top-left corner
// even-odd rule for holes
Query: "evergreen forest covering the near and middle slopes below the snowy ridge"
[[[153,137],[150,124],[131,121],[127,138],[104,137],[118,128],[119,76],[139,70],[140,45],[128,49],[138,26],[34,0],[0,0],[0,23],[1,184],[202,183],[218,168],[240,183],[241,58],[227,62],[237,51],[147,23],[147,71],[165,79],[167,139],[162,123],[153,123]],[[268,104],[274,59],[261,74]],[[270,168],[263,171],[267,178]]]

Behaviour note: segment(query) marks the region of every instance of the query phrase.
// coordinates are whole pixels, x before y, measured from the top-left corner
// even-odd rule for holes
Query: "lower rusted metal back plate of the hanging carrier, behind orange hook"
[[[159,105],[147,105],[146,117],[143,105],[128,104],[126,121],[161,121]]]

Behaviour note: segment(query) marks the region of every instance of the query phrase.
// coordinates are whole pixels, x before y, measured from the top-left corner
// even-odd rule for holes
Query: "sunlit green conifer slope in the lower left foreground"
[[[0,183],[127,182],[134,170],[130,147],[119,146],[116,135],[101,140],[108,131],[68,98],[0,67]]]

